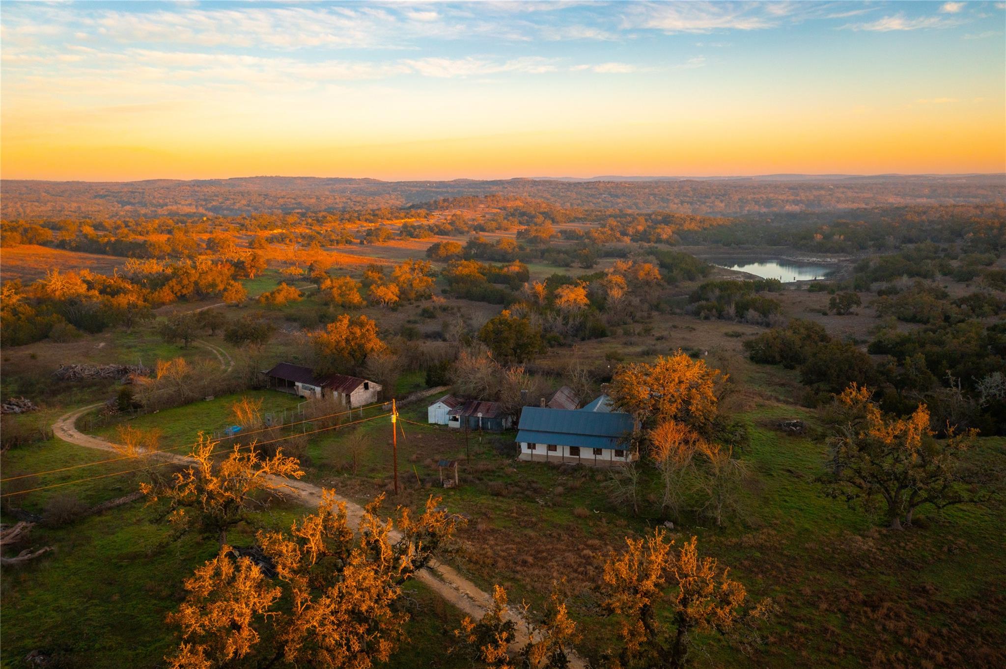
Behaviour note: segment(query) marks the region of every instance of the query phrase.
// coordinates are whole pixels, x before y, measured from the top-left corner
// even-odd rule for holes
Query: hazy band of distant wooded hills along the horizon
[[[765,175],[396,181],[241,177],[132,182],[0,182],[6,219],[235,216],[421,206],[503,195],[562,207],[738,216],[887,205],[1001,202],[1006,175]]]

